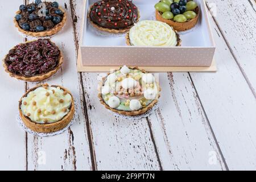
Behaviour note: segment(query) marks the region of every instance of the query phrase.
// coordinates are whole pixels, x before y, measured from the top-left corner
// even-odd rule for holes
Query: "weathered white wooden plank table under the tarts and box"
[[[0,3],[0,57],[26,41],[13,17],[27,2]],[[1,68],[0,169],[256,169],[254,0],[207,0],[218,72],[160,73],[159,109],[139,121],[116,118],[103,108],[96,92],[100,73],[76,72],[82,0],[59,3],[68,21],[52,40],[65,60],[47,82],[71,90],[81,104],[79,122],[55,137],[23,131],[16,122],[18,100],[35,84]]]

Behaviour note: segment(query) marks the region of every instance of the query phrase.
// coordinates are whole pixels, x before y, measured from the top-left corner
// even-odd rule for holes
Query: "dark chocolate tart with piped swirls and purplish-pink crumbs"
[[[36,49],[28,50],[28,49],[26,49],[30,44],[40,43],[40,42],[46,43],[49,47],[42,44],[41,46],[43,48],[42,49],[40,48],[39,50],[36,50]],[[24,52],[28,51],[28,52],[27,53],[25,52],[24,55],[23,55],[22,51],[20,51],[20,49],[16,49],[16,48],[20,48],[21,50],[22,50],[22,48],[24,48],[24,50],[22,50],[22,51],[24,51]],[[20,52],[17,53],[16,51],[20,51]],[[33,52],[33,51],[36,51],[36,52]],[[47,52],[49,53],[49,51],[57,51],[57,55],[52,55],[52,56],[47,55],[48,57],[42,56],[43,52],[45,52],[44,54],[46,55]],[[31,58],[32,56],[30,57],[30,55],[29,55],[30,52],[32,52],[32,53],[38,53],[39,52],[39,58],[33,60]],[[17,55],[15,55],[15,53],[17,53]],[[13,69],[13,65],[12,65],[13,63],[11,63],[11,64],[8,63],[9,61],[7,59],[10,59],[10,56],[14,56],[14,58],[12,58],[12,59],[16,59],[16,60],[14,60],[14,61],[16,61],[15,63],[13,61],[14,67],[15,67],[15,65],[17,67],[20,67],[18,69],[15,68],[16,71],[14,71],[14,69]],[[36,56],[36,55],[34,55],[34,56]],[[28,57],[32,60],[27,60],[28,59],[27,58],[25,63],[24,63],[24,57]],[[42,60],[44,60],[44,62],[42,62]],[[47,61],[49,61],[49,62],[47,62]],[[38,65],[36,65],[35,63],[38,64]],[[48,65],[47,65],[47,63],[48,63]],[[7,73],[9,73],[9,75],[11,77],[15,77],[18,80],[30,81],[30,82],[42,81],[42,80],[45,80],[46,78],[51,77],[53,74],[55,74],[60,69],[62,64],[63,64],[63,53],[55,45],[55,43],[51,42],[49,39],[38,39],[38,40],[28,41],[26,43],[20,43],[17,46],[13,47],[9,51],[9,53],[5,56],[5,58],[3,59],[3,67],[5,68],[5,71]],[[28,75],[27,73],[26,73],[26,75],[21,74],[20,72],[22,72],[25,67],[32,67],[32,68],[36,69],[37,71],[36,71],[36,73],[32,73],[32,75]],[[49,67],[49,68],[47,68],[47,67]],[[38,71],[39,68],[42,68],[42,71]],[[29,71],[30,70],[28,69],[28,72]],[[34,70],[32,70],[32,71],[34,71]]]

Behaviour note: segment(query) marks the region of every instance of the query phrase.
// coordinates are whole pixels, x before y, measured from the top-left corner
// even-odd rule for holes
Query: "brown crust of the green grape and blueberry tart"
[[[199,14],[200,14],[199,7],[196,7],[195,13],[196,13],[196,17],[195,18],[190,19],[187,22],[180,23],[180,22],[174,22],[173,20],[164,19],[162,17],[162,15],[160,14],[160,12],[158,10],[155,10],[155,19],[159,20],[160,22],[167,23],[171,27],[174,27],[174,30],[180,32],[180,31],[189,30],[189,29],[191,29],[191,28],[196,26],[196,23],[199,20]]]

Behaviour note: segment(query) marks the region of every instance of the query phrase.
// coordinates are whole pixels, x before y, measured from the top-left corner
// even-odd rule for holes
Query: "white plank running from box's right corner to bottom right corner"
[[[215,59],[218,72],[190,75],[229,169],[254,170],[256,100],[212,18],[210,23],[217,44]],[[243,49],[242,44],[237,49]],[[247,55],[250,56],[250,52]]]

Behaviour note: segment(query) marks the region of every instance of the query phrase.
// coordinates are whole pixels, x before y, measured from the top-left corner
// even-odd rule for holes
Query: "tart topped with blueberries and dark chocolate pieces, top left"
[[[66,13],[57,2],[42,3],[36,0],[28,5],[20,5],[14,23],[25,35],[43,37],[59,32],[66,20]]]

